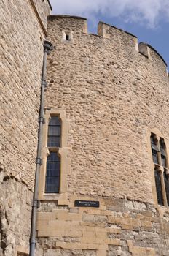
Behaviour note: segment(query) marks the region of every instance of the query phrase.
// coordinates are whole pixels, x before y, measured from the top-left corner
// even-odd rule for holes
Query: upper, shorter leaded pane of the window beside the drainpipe
[[[48,125],[47,146],[49,148],[60,147],[60,129],[60,118],[58,116],[52,116]]]

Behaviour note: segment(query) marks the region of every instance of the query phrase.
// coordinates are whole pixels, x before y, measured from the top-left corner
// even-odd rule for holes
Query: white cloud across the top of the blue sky
[[[169,21],[169,0],[50,0],[53,13],[97,17],[121,17],[126,22],[154,28],[160,19]]]

